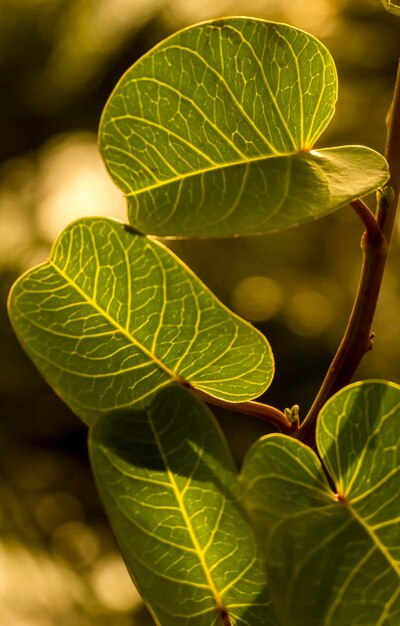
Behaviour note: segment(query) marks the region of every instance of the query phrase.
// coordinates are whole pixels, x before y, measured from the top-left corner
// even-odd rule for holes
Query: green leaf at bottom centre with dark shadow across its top
[[[91,429],[98,489],[162,626],[276,626],[236,470],[213,415],[170,386]]]

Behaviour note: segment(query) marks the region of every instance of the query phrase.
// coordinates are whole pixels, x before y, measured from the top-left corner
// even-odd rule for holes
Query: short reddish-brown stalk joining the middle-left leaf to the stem
[[[200,391],[199,389],[195,389],[192,386],[189,388],[196,394],[198,398],[203,400],[203,402],[207,402],[207,404],[213,404],[215,406],[219,406],[223,409],[227,409],[228,411],[234,411],[236,413],[245,413],[246,415],[252,415],[253,417],[257,417],[258,419],[263,420],[264,422],[269,422],[273,424],[281,433],[286,435],[293,434],[298,428],[298,424],[295,422],[292,424],[286,417],[282,411],[276,409],[273,406],[269,406],[268,404],[263,404],[262,402],[228,402],[227,400],[221,400],[220,398],[214,398],[213,396],[209,396],[204,391]]]

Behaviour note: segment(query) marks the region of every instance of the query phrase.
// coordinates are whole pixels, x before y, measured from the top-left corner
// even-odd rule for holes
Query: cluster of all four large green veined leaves
[[[10,296],[21,344],[89,425],[105,508],[162,626],[400,619],[400,387],[343,389],[320,414],[319,456],[270,435],[239,479],[195,392],[258,397],[271,348],[150,236],[273,232],[382,186],[373,150],[314,148],[336,92],[328,51],[286,25],[230,18],[162,42],[100,126],[131,225],[73,223]]]

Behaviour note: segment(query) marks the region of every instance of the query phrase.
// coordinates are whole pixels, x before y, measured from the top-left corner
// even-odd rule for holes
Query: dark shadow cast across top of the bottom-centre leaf
[[[101,415],[91,429],[93,445],[107,449],[124,471],[215,485],[243,515],[239,482],[235,490],[228,484],[238,471],[222,430],[208,407],[182,385],[170,383],[140,408]]]

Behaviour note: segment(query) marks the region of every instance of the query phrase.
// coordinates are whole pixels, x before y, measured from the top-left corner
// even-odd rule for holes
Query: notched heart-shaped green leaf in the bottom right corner
[[[283,435],[250,451],[245,500],[285,626],[400,623],[399,441],[400,387],[367,381],[321,411],[325,469]]]

